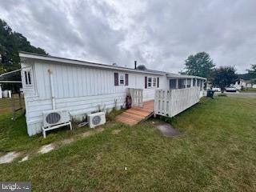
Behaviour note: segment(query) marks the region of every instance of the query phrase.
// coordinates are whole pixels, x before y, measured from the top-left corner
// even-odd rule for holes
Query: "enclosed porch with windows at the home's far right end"
[[[199,97],[202,98],[206,90],[206,78],[186,75],[186,74],[167,74],[170,90],[199,88]]]

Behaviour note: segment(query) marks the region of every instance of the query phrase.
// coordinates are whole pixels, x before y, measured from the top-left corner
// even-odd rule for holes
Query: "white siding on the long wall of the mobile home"
[[[124,85],[125,75],[129,75],[129,85],[114,86],[113,70],[35,62],[34,86],[37,87],[37,94],[27,97],[25,93],[26,122],[30,135],[41,132],[42,111],[52,110],[49,69],[52,71],[56,109],[69,110],[72,117],[79,121],[86,113],[97,111],[99,107],[113,109],[115,105],[118,108],[123,106],[126,88],[143,89],[143,101],[154,99],[155,89],[144,88],[145,74],[116,70],[118,75],[123,74]],[[159,89],[166,89],[166,76],[152,75],[152,78],[159,78]]]

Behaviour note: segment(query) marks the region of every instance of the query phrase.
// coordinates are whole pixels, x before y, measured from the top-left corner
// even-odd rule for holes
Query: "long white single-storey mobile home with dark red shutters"
[[[127,88],[143,90],[143,101],[154,99],[158,89],[200,86],[206,78],[170,74],[156,70],[135,70],[67,58],[20,52],[22,89],[29,135],[42,132],[42,112],[69,110],[74,120],[98,109],[125,106]]]

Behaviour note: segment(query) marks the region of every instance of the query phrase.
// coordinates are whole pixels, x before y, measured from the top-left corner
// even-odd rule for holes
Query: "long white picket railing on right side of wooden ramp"
[[[156,90],[154,96],[154,114],[174,117],[199,102],[199,87],[180,90]]]

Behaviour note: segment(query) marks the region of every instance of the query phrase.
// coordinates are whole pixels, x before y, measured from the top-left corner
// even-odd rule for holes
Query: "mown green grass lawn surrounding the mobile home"
[[[255,106],[256,98],[203,99],[172,119],[178,138],[163,137],[154,118],[131,127],[109,122],[48,154],[0,165],[0,181],[30,181],[33,191],[255,191]],[[2,151],[35,150],[88,131],[28,138],[24,118],[8,115],[0,116]]]

